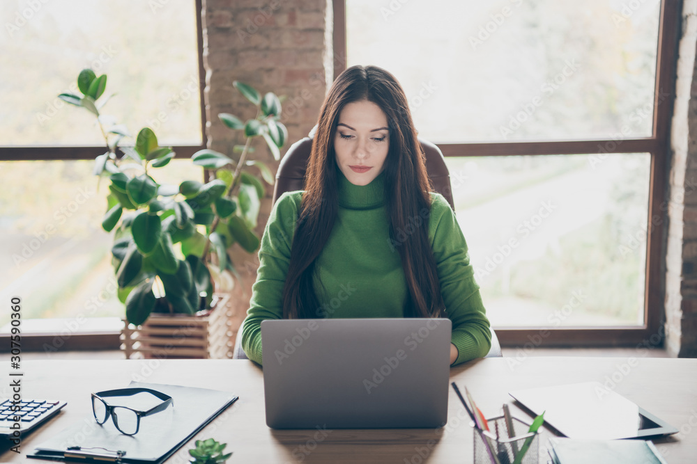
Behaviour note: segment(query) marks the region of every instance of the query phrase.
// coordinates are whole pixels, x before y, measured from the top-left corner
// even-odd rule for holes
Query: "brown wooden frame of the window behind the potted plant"
[[[176,145],[172,149],[178,157],[188,158],[208,145],[206,135],[206,102],[204,88],[206,87],[206,69],[204,68],[204,33],[203,33],[203,0],[194,0],[196,14],[197,53],[199,67],[199,102],[201,111],[201,145]],[[61,161],[61,160],[90,160],[104,152],[103,145],[49,146],[49,145],[0,145],[0,162],[2,161]],[[125,313],[124,313],[125,314]],[[62,320],[62,319],[61,319]],[[60,346],[54,341],[61,339]],[[65,327],[56,323],[54,332],[22,333],[23,351],[44,351],[46,346],[52,346],[50,351],[66,350],[106,350],[118,349],[121,344],[119,333],[105,331],[78,331],[66,335]],[[0,334],[0,353],[10,351],[10,334]]]

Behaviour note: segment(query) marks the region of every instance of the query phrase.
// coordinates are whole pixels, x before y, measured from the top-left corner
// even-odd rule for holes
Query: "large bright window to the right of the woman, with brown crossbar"
[[[675,3],[334,6],[335,72],[395,74],[445,154],[502,342],[657,333]]]

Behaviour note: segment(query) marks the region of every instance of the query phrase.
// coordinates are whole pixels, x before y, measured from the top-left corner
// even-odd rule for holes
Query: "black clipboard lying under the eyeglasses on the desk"
[[[128,387],[151,388],[169,394],[174,407],[142,417],[141,429],[136,435],[123,435],[111,419],[99,425],[89,415],[41,443],[26,457],[81,463],[159,464],[238,399],[229,392],[207,388],[141,382],[131,382]],[[89,395],[85,401],[89,401]]]

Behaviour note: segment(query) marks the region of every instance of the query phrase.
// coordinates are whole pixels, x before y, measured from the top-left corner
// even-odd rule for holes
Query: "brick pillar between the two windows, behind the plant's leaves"
[[[217,118],[232,113],[246,120],[254,106],[233,88],[233,81],[254,86],[263,95],[285,95],[281,121],[291,143],[307,135],[315,125],[328,83],[332,81],[332,10],[329,0],[203,0],[204,67],[206,67],[206,135],[208,147],[233,154],[233,145],[244,143],[241,131],[231,131]],[[277,163],[262,140],[254,157]],[[261,236],[271,208],[267,186],[261,205],[258,234]],[[232,331],[236,332],[249,307],[252,283],[259,259],[233,246],[233,262],[240,281],[233,290]]]

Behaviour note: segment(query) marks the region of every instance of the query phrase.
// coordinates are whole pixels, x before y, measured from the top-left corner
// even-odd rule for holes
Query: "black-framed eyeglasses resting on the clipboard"
[[[162,400],[154,408],[146,411],[137,411],[126,408],[125,406],[112,406],[107,404],[102,397],[130,397],[138,393],[150,393]],[[172,397],[149,388],[121,388],[118,390],[105,390],[92,394],[92,413],[98,424],[104,424],[111,415],[116,429],[124,435],[135,435],[140,429],[140,418],[167,409],[167,406],[174,404]]]

